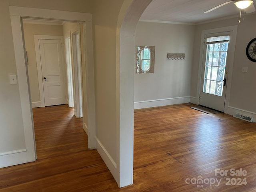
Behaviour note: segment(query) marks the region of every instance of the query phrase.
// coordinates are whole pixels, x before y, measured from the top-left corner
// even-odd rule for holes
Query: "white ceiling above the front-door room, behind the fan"
[[[153,20],[198,24],[220,18],[238,17],[240,9],[233,2],[212,12],[205,11],[229,0],[153,0],[142,14],[140,21]],[[254,1],[254,6],[256,1]],[[254,12],[253,14],[255,14]],[[242,16],[244,15],[242,11]],[[246,13],[245,13],[246,16]]]

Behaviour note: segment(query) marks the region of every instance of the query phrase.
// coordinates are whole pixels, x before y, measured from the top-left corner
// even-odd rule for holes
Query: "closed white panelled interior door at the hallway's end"
[[[39,39],[45,106],[65,104],[61,40]]]

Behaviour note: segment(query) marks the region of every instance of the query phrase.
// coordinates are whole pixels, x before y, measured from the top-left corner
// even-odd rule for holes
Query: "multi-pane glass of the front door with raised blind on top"
[[[222,96],[229,36],[207,38],[203,92]]]

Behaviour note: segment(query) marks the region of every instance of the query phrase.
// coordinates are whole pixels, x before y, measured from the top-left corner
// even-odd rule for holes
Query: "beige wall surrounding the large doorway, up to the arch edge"
[[[8,84],[8,73],[16,73],[9,7],[22,6],[92,13],[94,74],[96,93],[96,136],[119,166],[119,135],[116,105],[116,26],[124,0],[2,0],[0,34],[1,68],[1,152],[24,148],[22,112],[18,85]],[[125,10],[123,10],[125,12]],[[31,60],[30,60],[31,61]],[[10,103],[10,105],[8,105]],[[8,118],[7,118],[8,117]],[[15,121],[14,121],[15,119]],[[118,120],[117,120],[118,119]],[[117,128],[118,127],[118,128]]]

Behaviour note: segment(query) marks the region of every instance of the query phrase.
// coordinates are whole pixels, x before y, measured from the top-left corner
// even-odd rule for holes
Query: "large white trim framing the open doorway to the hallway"
[[[24,34],[22,18],[41,18],[61,20],[66,22],[79,22],[83,24],[84,34],[84,56],[86,77],[86,97],[88,100],[88,147],[96,148],[95,134],[95,97],[94,97],[94,67],[93,67],[93,44],[92,44],[92,14],[68,12],[59,10],[47,10],[38,8],[9,6],[10,20],[12,25],[12,36],[14,42],[14,54],[16,60],[16,69],[19,80],[19,92],[22,109],[22,120],[24,127],[24,136],[26,143],[26,158],[20,159],[21,163],[32,162],[36,160],[36,145],[34,136],[34,123],[30,98],[30,88],[28,81],[28,68],[26,61],[26,52],[24,46]],[[90,104],[90,105],[89,105]],[[22,155],[22,154],[21,154]]]

